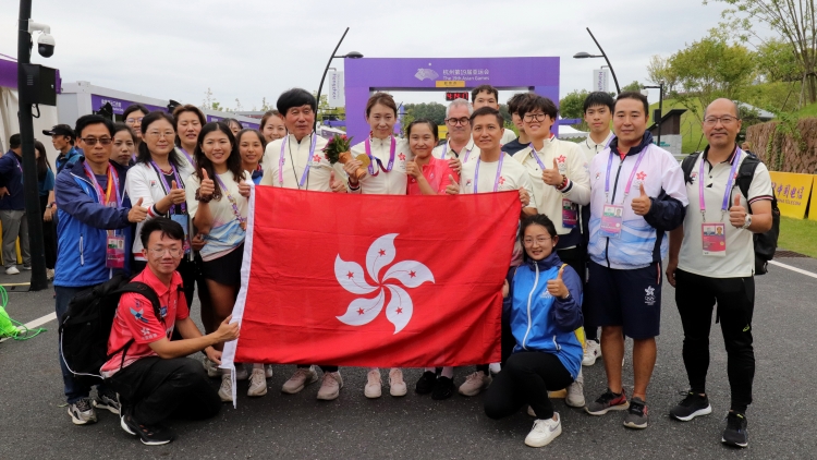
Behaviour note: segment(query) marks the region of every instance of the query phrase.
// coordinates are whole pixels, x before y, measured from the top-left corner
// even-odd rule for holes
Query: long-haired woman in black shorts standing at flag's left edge
[[[210,327],[216,327],[232,314],[241,287],[251,173],[242,169],[239,145],[223,122],[202,128],[195,161],[196,170],[187,178],[185,192],[193,225],[206,243],[200,251],[202,270],[214,310]],[[217,348],[221,350],[221,346]],[[230,372],[221,371],[219,397],[232,401]],[[266,394],[264,365],[255,364],[247,395]]]

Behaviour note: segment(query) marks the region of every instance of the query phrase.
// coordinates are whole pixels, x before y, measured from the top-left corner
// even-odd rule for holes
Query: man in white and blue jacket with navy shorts
[[[661,324],[661,259],[668,232],[686,213],[678,160],[653,145],[649,104],[641,93],[619,94],[615,138],[590,162],[588,323],[601,326],[607,391],[587,404],[592,415],[626,410],[624,426],[646,428],[647,385],[656,364]],[[633,398],[621,383],[624,336],[633,339]]]

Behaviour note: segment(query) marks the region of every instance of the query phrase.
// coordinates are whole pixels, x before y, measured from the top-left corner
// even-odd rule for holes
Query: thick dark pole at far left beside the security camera
[[[31,19],[32,0],[20,0],[20,21],[17,23],[17,97],[20,98],[20,137],[23,144],[23,193],[25,198],[25,214],[28,219],[28,246],[32,253],[32,280],[29,290],[39,291],[48,289],[48,278],[46,275],[46,250],[42,242],[42,210],[39,208],[39,191],[37,186],[37,160],[34,154],[32,100],[29,100],[28,90],[25,90],[25,65],[32,62],[33,41],[32,33],[29,32]]]

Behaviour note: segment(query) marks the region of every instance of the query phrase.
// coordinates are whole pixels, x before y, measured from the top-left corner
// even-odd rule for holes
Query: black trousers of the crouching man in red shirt
[[[174,419],[200,420],[221,410],[199,361],[190,358],[143,358],[109,379],[122,407],[145,425]]]

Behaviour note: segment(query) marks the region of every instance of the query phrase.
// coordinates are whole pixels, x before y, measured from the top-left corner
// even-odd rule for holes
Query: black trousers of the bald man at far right
[[[752,382],[755,378],[755,351],[752,348],[755,279],[709,278],[676,270],[675,282],[675,304],[684,327],[683,356],[691,391],[706,392],[709,330],[712,307],[717,303],[716,323],[720,322],[727,347],[731,410],[745,413],[752,403]]]

